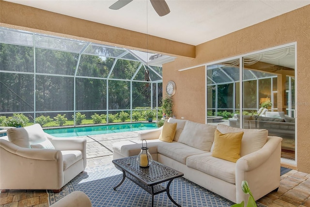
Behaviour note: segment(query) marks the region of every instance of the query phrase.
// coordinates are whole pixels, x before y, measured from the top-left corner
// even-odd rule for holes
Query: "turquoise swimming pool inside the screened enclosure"
[[[129,124],[110,124],[87,127],[54,128],[44,129],[47,134],[54,137],[79,137],[96,134],[109,134],[126,131],[139,131],[157,128],[156,123],[129,123]]]

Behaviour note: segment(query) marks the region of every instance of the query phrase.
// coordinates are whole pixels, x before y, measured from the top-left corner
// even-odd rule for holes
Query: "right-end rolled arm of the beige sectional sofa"
[[[248,195],[241,189],[243,180],[248,181],[255,200],[277,189],[280,184],[281,166],[280,137],[268,136],[262,149],[250,153],[236,162],[236,203],[248,201]]]

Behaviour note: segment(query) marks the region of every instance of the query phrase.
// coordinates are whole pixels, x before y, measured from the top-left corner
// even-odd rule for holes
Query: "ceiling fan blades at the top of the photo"
[[[128,3],[130,3],[131,1],[133,0],[118,0],[115,3],[113,3],[111,6],[109,6],[109,9],[118,10],[124,7],[125,5],[127,5]],[[150,0],[150,1],[151,1],[151,4],[154,10],[159,16],[165,16],[170,13],[170,9],[165,0]]]

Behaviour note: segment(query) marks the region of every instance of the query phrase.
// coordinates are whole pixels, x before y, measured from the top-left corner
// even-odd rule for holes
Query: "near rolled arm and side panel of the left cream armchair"
[[[0,139],[0,189],[51,189],[64,185],[62,152],[24,148]]]

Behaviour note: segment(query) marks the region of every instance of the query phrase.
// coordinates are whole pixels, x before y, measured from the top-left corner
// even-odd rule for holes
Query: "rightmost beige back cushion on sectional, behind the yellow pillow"
[[[241,157],[261,149],[267,142],[268,137],[268,130],[266,129],[244,129],[219,124],[217,125],[217,130],[223,134],[229,132],[244,132],[241,140]]]

